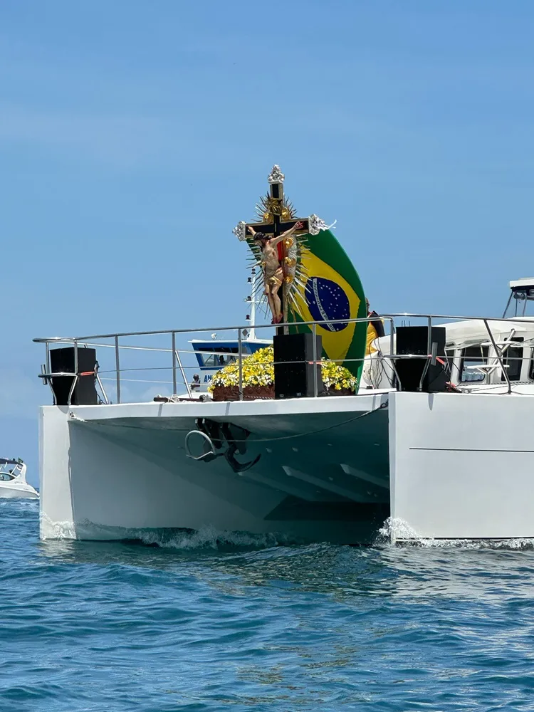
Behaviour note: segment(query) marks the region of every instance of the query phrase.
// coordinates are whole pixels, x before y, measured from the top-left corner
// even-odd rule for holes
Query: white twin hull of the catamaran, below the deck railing
[[[533,405],[529,394],[381,392],[44,407],[41,537],[208,529],[358,544],[389,520],[393,542],[534,538]],[[192,459],[206,423],[221,447]]]

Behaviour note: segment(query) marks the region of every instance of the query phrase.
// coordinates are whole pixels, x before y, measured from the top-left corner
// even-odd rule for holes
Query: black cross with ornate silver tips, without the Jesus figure
[[[308,218],[290,218],[290,214],[286,206],[284,206],[284,196],[283,196],[283,181],[284,174],[281,172],[280,166],[273,166],[271,173],[268,174],[269,182],[269,196],[266,201],[266,211],[263,214],[263,222],[258,223],[246,223],[240,222],[239,225],[234,229],[234,234],[239,237],[240,240],[246,240],[247,237],[251,236],[248,231],[248,227],[252,227],[256,232],[262,232],[264,235],[269,235],[272,237],[278,237],[286,230],[290,229],[296,223],[300,222],[303,227],[295,231],[295,235],[305,235],[308,234],[310,226],[308,224]],[[286,258],[286,246],[282,242],[278,243],[278,263],[283,266],[284,258]],[[281,302],[283,311],[283,320],[287,322],[288,311],[287,311],[287,300],[286,300],[286,283],[283,285]],[[284,327],[278,327],[276,329],[277,334],[283,334]]]

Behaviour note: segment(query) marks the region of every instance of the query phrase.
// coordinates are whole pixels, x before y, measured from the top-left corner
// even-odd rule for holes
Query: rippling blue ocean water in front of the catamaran
[[[534,709],[529,542],[38,540],[0,501],[1,712]]]

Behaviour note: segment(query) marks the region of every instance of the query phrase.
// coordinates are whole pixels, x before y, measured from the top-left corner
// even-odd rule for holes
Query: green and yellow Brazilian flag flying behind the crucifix
[[[295,281],[292,285],[295,291],[288,309],[288,321],[295,326],[290,327],[290,332],[310,332],[312,328],[302,324],[305,321],[326,322],[316,326],[316,333],[323,337],[323,354],[345,366],[360,382],[367,324],[328,323],[329,319],[367,316],[360,277],[330,230],[307,235],[300,250],[304,269],[299,283]]]

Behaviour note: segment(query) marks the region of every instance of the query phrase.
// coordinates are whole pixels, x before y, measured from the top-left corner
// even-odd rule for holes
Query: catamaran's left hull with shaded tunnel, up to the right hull
[[[320,400],[323,412],[313,412],[302,401],[300,406],[43,407],[41,538],[120,539],[137,538],[138,530],[145,529],[215,528],[357,541],[361,525],[354,508],[379,506],[389,513],[387,410],[352,420],[387,397]],[[333,412],[335,401],[342,403],[340,412]],[[299,407],[309,410],[298,412]],[[349,424],[323,436],[262,442],[236,455],[243,462],[261,454],[258,464],[235,473],[224,457],[205,463],[185,456],[184,436],[196,427],[197,417],[239,422],[258,438],[292,428],[309,432],[332,422]],[[295,502],[296,519],[288,505]],[[303,506],[309,515],[303,516]],[[334,512],[330,519],[324,513],[329,507]],[[335,513],[339,507],[344,517]]]

